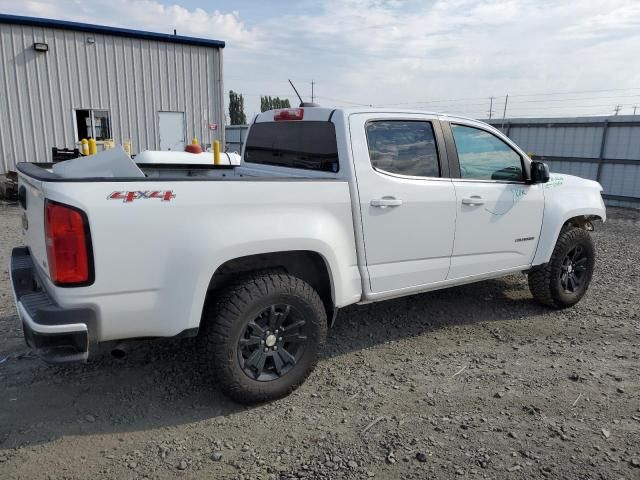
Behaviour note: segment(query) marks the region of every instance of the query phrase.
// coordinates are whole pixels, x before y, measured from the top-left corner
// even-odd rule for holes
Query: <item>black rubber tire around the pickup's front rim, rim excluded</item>
[[[587,258],[586,271],[580,287],[575,292],[569,292],[563,288],[560,276],[563,261],[576,247],[584,249]],[[529,271],[529,290],[538,302],[551,308],[562,309],[575,305],[589,288],[595,260],[595,246],[589,232],[582,228],[564,227],[560,232],[549,263],[534,267]]]

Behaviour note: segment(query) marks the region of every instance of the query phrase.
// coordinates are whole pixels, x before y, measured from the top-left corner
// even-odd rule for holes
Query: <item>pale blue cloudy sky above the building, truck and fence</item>
[[[640,115],[639,0],[0,0],[0,12],[224,40],[225,91],[493,117]],[[228,97],[227,97],[228,98]]]

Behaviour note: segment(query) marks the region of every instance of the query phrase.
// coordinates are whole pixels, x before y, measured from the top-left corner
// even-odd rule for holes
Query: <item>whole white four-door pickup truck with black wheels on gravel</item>
[[[575,304],[606,217],[598,183],[549,178],[485,123],[416,111],[264,112],[239,166],[49,167],[18,165],[26,246],[11,277],[27,343],[61,362],[197,335],[241,402],[302,383],[347,305],[516,272],[543,304]]]

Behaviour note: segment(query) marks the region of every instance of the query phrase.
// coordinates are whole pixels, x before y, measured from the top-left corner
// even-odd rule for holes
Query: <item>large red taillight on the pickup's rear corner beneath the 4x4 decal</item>
[[[49,200],[44,208],[51,280],[57,285],[90,283],[92,259],[86,216],[81,210]]]

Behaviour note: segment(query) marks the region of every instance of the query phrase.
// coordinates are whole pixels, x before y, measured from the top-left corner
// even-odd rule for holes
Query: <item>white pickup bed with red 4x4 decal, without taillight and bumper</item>
[[[252,252],[320,252],[340,270],[336,304],[360,298],[346,179],[149,164],[140,165],[144,178],[70,179],[49,168],[18,165],[26,245],[39,283],[57,305],[95,311],[100,341],[196,327],[216,269]],[[45,199],[86,213],[95,271],[90,285],[51,282]]]

